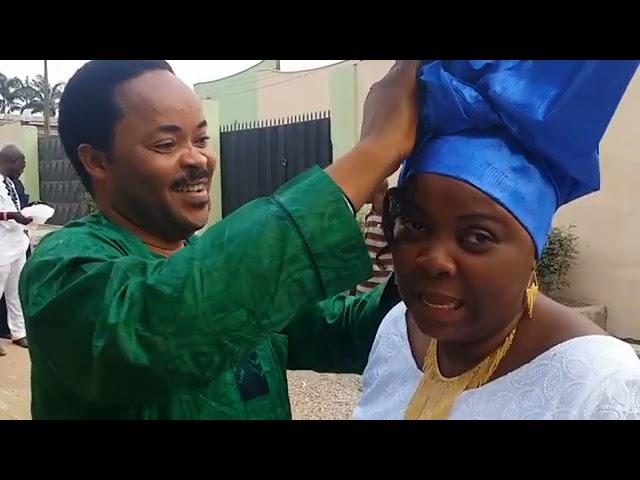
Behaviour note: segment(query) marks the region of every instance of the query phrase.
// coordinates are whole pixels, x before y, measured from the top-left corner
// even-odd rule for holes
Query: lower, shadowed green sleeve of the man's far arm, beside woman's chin
[[[285,330],[288,368],[362,373],[378,327],[400,302],[393,278],[368,293],[338,295],[302,312]]]

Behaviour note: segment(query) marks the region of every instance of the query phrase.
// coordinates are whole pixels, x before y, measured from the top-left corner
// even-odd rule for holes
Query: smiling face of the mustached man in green
[[[116,101],[123,116],[108,155],[105,200],[159,238],[188,237],[208,221],[215,169],[199,99],[158,70],[122,84]]]

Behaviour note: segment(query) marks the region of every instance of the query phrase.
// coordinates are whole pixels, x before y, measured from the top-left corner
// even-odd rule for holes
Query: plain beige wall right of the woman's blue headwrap
[[[640,71],[600,148],[601,191],[563,207],[555,219],[575,225],[580,236],[567,293],[606,305],[613,335],[640,339]]]

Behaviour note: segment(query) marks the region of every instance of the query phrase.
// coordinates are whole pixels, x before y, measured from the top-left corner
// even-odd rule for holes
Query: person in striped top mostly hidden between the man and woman
[[[357,293],[367,293],[387,281],[393,273],[393,259],[384,238],[382,230],[382,204],[389,190],[389,182],[385,179],[371,194],[367,203],[371,204],[371,211],[364,220],[364,242],[373,264],[373,276],[357,286]]]

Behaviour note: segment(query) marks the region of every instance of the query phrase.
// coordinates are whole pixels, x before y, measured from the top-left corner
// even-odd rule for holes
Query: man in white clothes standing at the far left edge
[[[29,248],[29,237],[25,235],[23,225],[31,219],[20,213],[18,192],[11,180],[22,175],[24,168],[24,154],[15,145],[0,149],[0,297],[5,297],[13,343],[27,348],[18,280]]]

